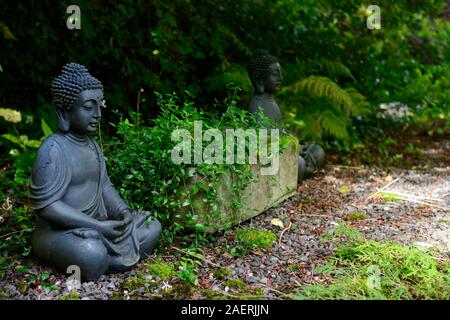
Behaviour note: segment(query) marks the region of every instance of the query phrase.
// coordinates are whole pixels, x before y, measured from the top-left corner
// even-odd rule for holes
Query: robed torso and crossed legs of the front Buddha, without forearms
[[[79,210],[99,221],[118,220],[121,212],[132,212],[114,189],[94,139],[70,132],[52,134],[41,145],[31,175],[30,200],[31,207],[38,211],[59,202],[63,208]],[[107,239],[90,228],[68,228],[40,216],[33,252],[62,272],[71,264],[81,264],[82,272],[84,267],[87,273],[83,278],[88,280],[105,271],[126,270],[153,250],[161,232],[158,221],[144,223],[146,214],[133,212],[131,216],[126,233],[116,239]],[[95,272],[89,271],[92,264],[96,264]]]

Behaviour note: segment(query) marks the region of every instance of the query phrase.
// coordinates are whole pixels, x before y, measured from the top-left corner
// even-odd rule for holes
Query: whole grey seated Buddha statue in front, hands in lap
[[[132,210],[109,180],[102,151],[90,134],[100,123],[103,87],[79,64],[66,64],[51,86],[59,132],[40,146],[30,184],[39,218],[34,255],[83,281],[121,272],[155,248],[161,224]]]

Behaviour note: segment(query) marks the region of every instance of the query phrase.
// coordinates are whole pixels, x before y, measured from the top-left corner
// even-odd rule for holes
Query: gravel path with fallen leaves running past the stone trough
[[[241,225],[273,231],[277,240],[270,250],[254,250],[233,258],[225,248],[233,242],[237,227],[205,246],[194,290],[176,276],[167,281],[149,276],[144,261],[130,272],[102,276],[97,283],[84,283],[78,296],[81,299],[204,299],[215,295],[290,298],[286,293],[299,285],[323,281],[315,270],[332,254],[333,244],[324,241],[322,235],[333,231],[342,221],[367,239],[434,247],[444,258],[450,258],[450,142],[441,147],[425,150],[432,163],[426,171],[327,166],[320,175],[300,185],[295,196]],[[407,200],[387,201],[374,194],[386,186],[384,192],[401,194]],[[355,212],[365,214],[366,218],[350,219],[349,214]],[[273,218],[291,227],[283,231],[271,224]],[[183,256],[186,255],[170,247],[160,253],[165,262],[176,262]],[[217,265],[230,270],[229,274],[219,276]],[[33,266],[31,271],[41,274],[48,269]],[[30,274],[10,272],[0,281],[0,293],[7,299],[60,299],[69,295],[67,278],[62,275],[51,275],[45,280],[61,288],[49,293],[39,282],[30,285],[29,278]],[[136,279],[139,284],[131,286]],[[232,279],[241,281],[230,282]]]

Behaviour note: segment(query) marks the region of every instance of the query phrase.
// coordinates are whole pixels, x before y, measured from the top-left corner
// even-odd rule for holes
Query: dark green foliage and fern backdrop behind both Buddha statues
[[[71,4],[81,8],[81,30],[66,27]],[[252,91],[246,63],[253,50],[266,48],[284,67],[281,103],[300,136],[349,140],[354,118],[373,118],[380,102],[399,101],[426,120],[448,121],[445,1],[378,1],[380,30],[366,27],[369,4],[0,1],[0,106],[34,116],[25,133],[36,134],[39,118],[55,128],[50,82],[76,61],[101,79],[109,107],[123,114],[136,111],[139,99],[143,116],[154,117],[155,90],[189,94],[211,109],[230,82],[243,88],[245,107]]]

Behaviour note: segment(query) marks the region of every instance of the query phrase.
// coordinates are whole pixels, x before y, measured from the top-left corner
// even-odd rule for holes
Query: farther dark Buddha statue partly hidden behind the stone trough
[[[257,50],[248,65],[248,73],[255,90],[249,111],[262,113],[275,125],[281,125],[283,113],[274,99],[274,93],[281,89],[283,75],[277,58],[266,50]],[[262,123],[261,123],[262,124]],[[264,124],[262,124],[264,125]],[[298,182],[310,178],[322,166],[325,152],[316,144],[301,145],[298,161]]]

